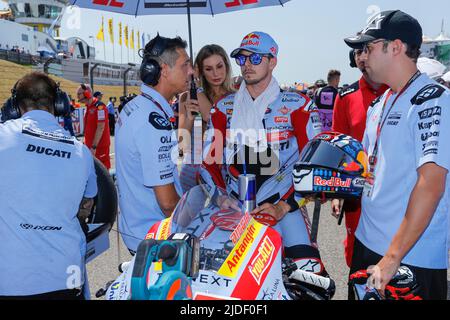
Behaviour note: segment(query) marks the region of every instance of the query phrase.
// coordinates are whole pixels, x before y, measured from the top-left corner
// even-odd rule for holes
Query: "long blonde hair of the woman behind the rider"
[[[211,85],[208,83],[208,81],[205,78],[205,75],[203,74],[203,61],[205,61],[205,59],[208,59],[209,57],[211,57],[215,54],[222,57],[223,62],[225,63],[225,68],[226,68],[226,72],[227,72],[225,81],[222,84],[222,88],[227,93],[231,93],[231,92],[235,91],[232,81],[231,81],[231,64],[230,64],[230,59],[228,59],[227,53],[221,46],[219,46],[217,44],[206,45],[203,48],[201,48],[199,53],[197,54],[197,57],[195,58],[195,65],[198,67],[199,76],[200,76],[200,85],[205,90],[205,94],[208,97],[208,99],[210,100],[210,102],[214,102],[213,101],[213,92],[212,92]]]

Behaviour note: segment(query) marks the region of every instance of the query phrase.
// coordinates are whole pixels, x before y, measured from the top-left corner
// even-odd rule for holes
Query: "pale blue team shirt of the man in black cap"
[[[435,163],[450,170],[450,92],[420,75],[398,98],[392,94],[383,118],[388,117],[379,140],[373,194],[362,198],[362,215],[356,237],[370,250],[384,255],[405,217],[411,192],[417,181],[417,170]],[[373,154],[376,131],[386,92],[367,114],[364,147]],[[402,261],[428,268],[448,267],[449,188],[447,175],[445,194],[430,225]]]

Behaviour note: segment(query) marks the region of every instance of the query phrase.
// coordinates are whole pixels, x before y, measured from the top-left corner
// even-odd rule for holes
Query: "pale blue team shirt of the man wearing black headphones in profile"
[[[157,91],[142,85],[168,117],[169,103]],[[181,195],[178,142],[166,115],[148,98],[137,96],[123,108],[116,125],[116,173],[119,189],[119,230],[126,246],[136,251],[148,230],[165,219],[153,187],[175,184]]]

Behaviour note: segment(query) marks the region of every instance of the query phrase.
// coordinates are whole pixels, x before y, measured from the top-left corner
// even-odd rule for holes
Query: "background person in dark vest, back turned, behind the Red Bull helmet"
[[[320,121],[322,121],[322,131],[330,131],[332,126],[334,102],[339,94],[341,72],[330,70],[327,80],[328,85],[319,88],[314,95],[314,101],[319,108]]]

